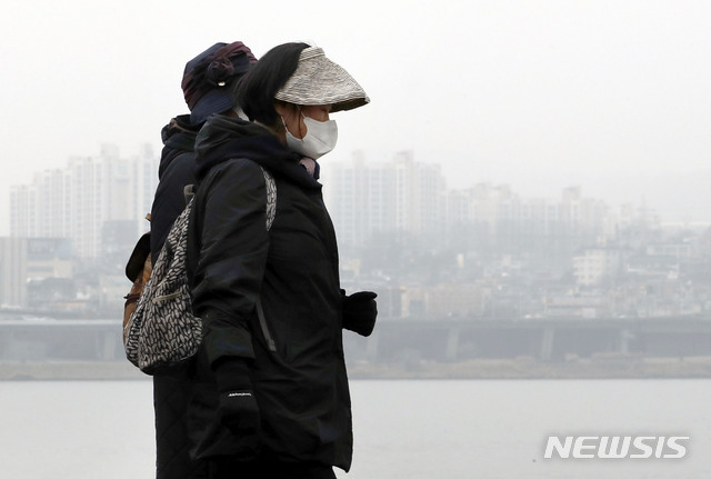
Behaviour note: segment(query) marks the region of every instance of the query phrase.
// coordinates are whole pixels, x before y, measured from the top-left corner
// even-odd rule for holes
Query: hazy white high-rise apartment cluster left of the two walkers
[[[69,238],[74,257],[100,258],[149,229],[144,217],[157,171],[150,146],[126,159],[106,144],[96,158],[71,158],[64,169],[38,172],[31,183],[11,189],[10,236]]]

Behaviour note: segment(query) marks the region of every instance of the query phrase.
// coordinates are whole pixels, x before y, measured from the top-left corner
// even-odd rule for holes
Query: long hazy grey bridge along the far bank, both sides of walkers
[[[361,338],[343,333],[347,357],[435,361],[569,356],[711,356],[711,317],[675,318],[379,318]],[[0,360],[124,359],[120,319],[2,319]]]

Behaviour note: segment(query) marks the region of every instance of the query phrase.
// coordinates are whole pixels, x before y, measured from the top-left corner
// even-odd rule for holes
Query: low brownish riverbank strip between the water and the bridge
[[[350,379],[684,379],[711,378],[711,357],[630,358],[601,356],[541,362],[533,358],[463,362],[349,365]],[[0,362],[0,380],[149,379],[128,361]]]

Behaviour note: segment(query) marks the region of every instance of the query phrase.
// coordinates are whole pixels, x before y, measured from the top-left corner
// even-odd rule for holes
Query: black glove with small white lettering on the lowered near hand
[[[257,445],[260,430],[260,415],[249,363],[244,358],[224,358],[214,367],[218,382],[218,419],[243,442]]]

